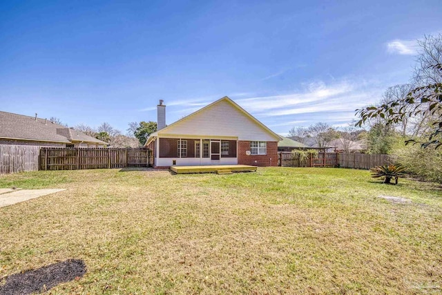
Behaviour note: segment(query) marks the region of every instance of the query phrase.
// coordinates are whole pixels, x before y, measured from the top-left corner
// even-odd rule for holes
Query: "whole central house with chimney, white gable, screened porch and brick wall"
[[[158,131],[145,144],[155,167],[247,164],[278,166],[282,139],[229,97],[166,126],[166,106],[157,106]]]

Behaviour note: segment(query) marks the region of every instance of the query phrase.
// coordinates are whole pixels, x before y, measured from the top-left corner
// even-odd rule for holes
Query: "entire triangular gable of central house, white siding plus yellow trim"
[[[263,136],[263,134],[266,135]],[[174,135],[194,135],[195,137],[220,135],[224,137],[238,136],[239,140],[260,140],[259,138],[267,138],[268,141],[282,140],[280,135],[271,131],[227,96],[200,108],[200,110],[160,131],[152,133],[146,141],[146,145],[158,136],[172,137]]]

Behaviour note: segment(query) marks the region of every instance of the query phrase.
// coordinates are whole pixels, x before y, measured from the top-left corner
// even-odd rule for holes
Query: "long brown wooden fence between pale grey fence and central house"
[[[40,149],[41,170],[148,167],[152,163],[152,153],[148,149]]]

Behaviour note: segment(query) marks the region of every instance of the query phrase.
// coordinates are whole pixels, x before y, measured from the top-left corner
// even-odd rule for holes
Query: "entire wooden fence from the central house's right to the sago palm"
[[[390,164],[390,155],[371,155],[367,153],[318,153],[316,158],[300,161],[299,155],[293,158],[288,151],[278,152],[278,166],[291,167],[341,167],[370,169],[374,166]]]

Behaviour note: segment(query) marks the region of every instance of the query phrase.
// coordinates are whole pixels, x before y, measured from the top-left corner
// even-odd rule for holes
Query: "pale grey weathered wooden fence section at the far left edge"
[[[0,174],[39,169],[39,146],[0,144]]]

